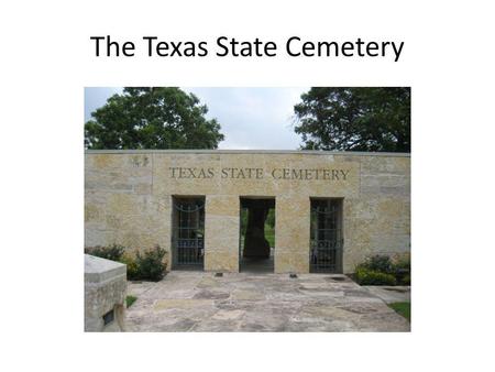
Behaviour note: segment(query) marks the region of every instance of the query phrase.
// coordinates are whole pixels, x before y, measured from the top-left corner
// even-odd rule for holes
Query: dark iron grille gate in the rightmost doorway
[[[342,272],[342,199],[311,200],[311,273]]]

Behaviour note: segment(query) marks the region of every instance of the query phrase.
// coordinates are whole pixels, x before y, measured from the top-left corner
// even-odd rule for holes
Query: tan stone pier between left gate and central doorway
[[[208,195],[205,208],[205,271],[239,272],[239,197]]]

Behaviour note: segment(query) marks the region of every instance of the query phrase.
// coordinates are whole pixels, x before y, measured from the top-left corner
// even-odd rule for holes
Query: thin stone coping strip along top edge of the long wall
[[[85,154],[305,154],[410,157],[410,153],[322,150],[85,150]]]

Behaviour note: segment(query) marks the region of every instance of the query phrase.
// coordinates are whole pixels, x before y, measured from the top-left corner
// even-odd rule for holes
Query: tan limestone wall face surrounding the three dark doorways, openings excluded
[[[276,199],[276,272],[309,271],[311,197],[343,198],[344,272],[410,250],[409,155],[333,152],[87,151],[85,244],[170,251],[173,196],[206,197],[205,270],[239,271],[240,197]]]

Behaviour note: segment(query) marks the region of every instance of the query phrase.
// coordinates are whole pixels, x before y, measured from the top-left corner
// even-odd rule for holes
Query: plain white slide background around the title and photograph
[[[493,369],[490,1],[0,6],[2,369]],[[383,59],[96,59],[89,36],[403,40]],[[280,44],[282,45],[282,44]],[[85,86],[411,86],[413,332],[82,332]]]

